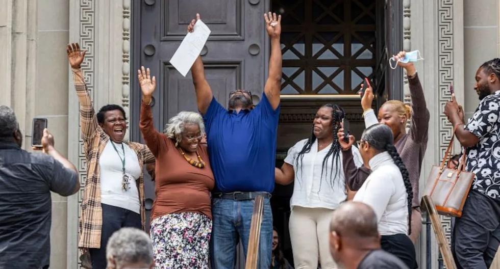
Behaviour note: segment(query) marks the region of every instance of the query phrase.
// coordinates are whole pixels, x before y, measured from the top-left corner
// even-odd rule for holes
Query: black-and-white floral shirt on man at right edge
[[[500,91],[486,96],[465,129],[479,138],[467,148],[467,171],[476,174],[472,189],[500,200]]]

